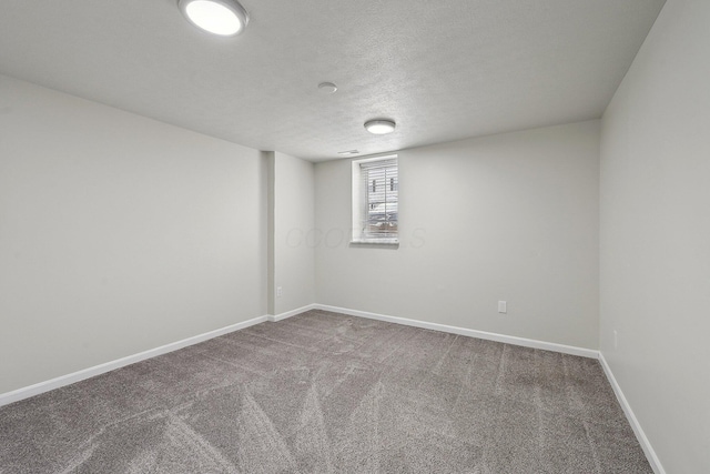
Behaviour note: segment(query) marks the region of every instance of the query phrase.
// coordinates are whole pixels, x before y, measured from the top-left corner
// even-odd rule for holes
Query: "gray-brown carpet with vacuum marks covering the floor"
[[[0,473],[651,473],[599,363],[311,311],[0,409]]]

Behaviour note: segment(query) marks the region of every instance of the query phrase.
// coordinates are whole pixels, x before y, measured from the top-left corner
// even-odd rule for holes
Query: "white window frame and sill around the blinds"
[[[394,235],[372,235],[367,234],[365,226],[367,214],[367,185],[364,181],[363,173],[366,171],[362,168],[365,163],[375,163],[378,161],[395,161],[397,165],[397,230]],[[386,206],[386,204],[385,204]],[[385,208],[386,209],[386,208]],[[397,154],[386,154],[379,157],[369,157],[352,160],[352,244],[375,244],[375,245],[398,245],[399,244],[399,160]]]

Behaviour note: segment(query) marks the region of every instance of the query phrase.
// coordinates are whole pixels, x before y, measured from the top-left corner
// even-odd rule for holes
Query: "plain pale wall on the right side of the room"
[[[710,472],[708,24],[669,0],[602,119],[601,352],[668,473]]]

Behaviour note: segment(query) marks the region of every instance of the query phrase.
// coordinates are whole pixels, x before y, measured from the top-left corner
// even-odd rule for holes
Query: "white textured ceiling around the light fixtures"
[[[225,39],[176,0],[2,0],[0,73],[318,161],[599,118],[663,1],[242,0]]]

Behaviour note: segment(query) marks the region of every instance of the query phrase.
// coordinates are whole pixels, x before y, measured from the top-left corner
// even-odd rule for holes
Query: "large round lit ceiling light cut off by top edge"
[[[178,6],[192,24],[222,37],[239,34],[248,23],[236,0],[178,0]]]

